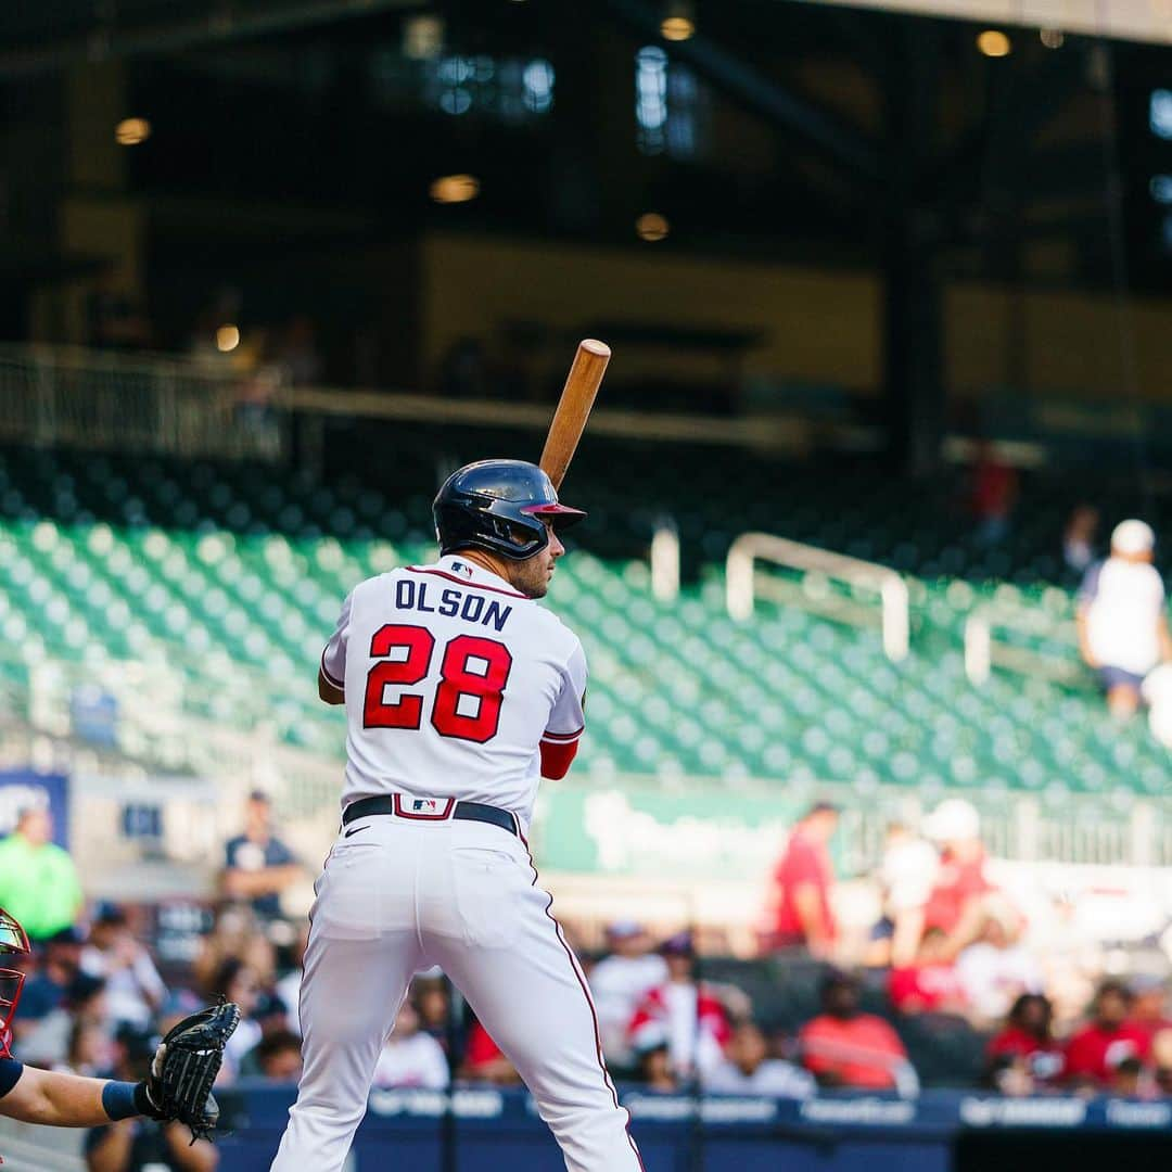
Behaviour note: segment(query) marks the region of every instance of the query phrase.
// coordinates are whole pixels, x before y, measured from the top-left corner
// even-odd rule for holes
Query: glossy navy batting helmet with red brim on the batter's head
[[[558,500],[553,483],[523,459],[482,459],[452,472],[431,506],[440,552],[469,546],[513,561],[540,553],[551,520],[564,529],[586,516]]]

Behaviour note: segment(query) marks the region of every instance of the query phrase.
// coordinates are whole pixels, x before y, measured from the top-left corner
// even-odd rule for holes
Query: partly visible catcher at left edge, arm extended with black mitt
[[[0,908],[0,959],[18,956],[28,950],[25,929],[14,917]],[[137,1083],[38,1070],[18,1062],[9,1049],[12,1020],[23,986],[22,972],[0,967],[0,1115],[21,1123],[40,1123],[50,1127],[101,1127],[138,1115],[165,1120],[178,1117],[193,1126],[192,1143],[196,1134],[210,1134],[219,1117],[219,1108],[207,1090],[219,1070],[219,1054],[212,1055],[210,1051],[217,1044],[223,1050],[219,1040],[209,1043],[204,1038],[202,1044],[205,1054],[185,1065],[180,1061],[182,1069],[173,1072],[164,1072],[168,1065],[168,1045],[165,1042],[161,1043],[150,1074]],[[209,1011],[216,1013],[218,1010]],[[180,1022],[168,1038],[172,1040],[177,1031],[192,1021],[195,1017]],[[227,1034],[234,1028],[233,1021]],[[193,1068],[199,1068],[195,1074],[206,1075],[206,1078],[193,1077]],[[176,1074],[178,1079],[173,1077]],[[176,1097],[172,1088],[180,1081],[184,1085]]]

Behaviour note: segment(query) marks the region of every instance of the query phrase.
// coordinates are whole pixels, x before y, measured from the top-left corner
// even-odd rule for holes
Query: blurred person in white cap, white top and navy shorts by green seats
[[[1111,533],[1111,556],[1091,566],[1078,593],[1078,648],[1099,674],[1109,711],[1120,720],[1139,707],[1144,676],[1172,656],[1154,547],[1150,525],[1120,522]]]

